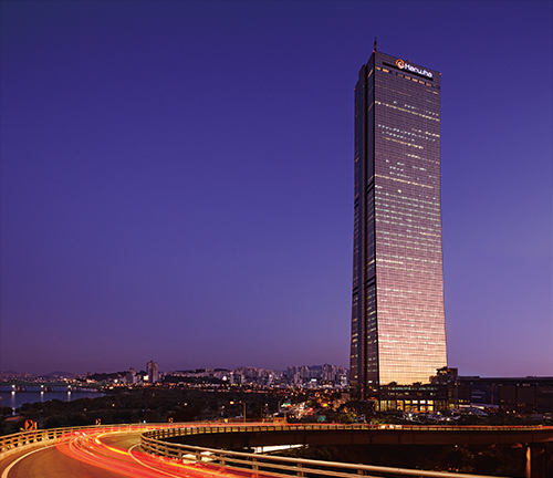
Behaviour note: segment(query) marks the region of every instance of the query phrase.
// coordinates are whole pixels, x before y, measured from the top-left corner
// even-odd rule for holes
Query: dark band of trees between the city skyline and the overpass
[[[289,423],[373,423],[373,424],[437,424],[431,417],[422,414],[409,419],[400,413],[377,413],[368,402],[343,402],[340,392],[304,391],[290,393],[246,392],[242,389],[198,389],[182,386],[175,387],[139,387],[114,388],[105,396],[96,398],[79,398],[72,402],[53,399],[23,404],[12,417],[11,407],[0,407],[0,435],[17,433],[30,419],[39,428],[59,428],[72,426],[133,423],[166,423],[173,420],[225,420],[246,418],[259,420],[273,417],[279,412],[279,404],[292,404],[286,412]],[[300,414],[293,405],[303,403],[309,413]],[[283,415],[280,415],[283,417]],[[461,415],[455,420],[441,422],[455,425],[536,425],[530,417],[498,413],[490,416]],[[541,422],[551,425],[551,419]]]

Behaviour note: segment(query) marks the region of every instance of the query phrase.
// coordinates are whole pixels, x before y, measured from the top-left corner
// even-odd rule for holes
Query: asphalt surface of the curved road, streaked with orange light
[[[181,426],[181,425],[180,425]],[[140,430],[95,428],[73,432],[54,445],[11,455],[0,463],[1,478],[154,478],[222,476],[209,465],[176,461],[139,450]],[[226,472],[226,477],[233,477]]]

